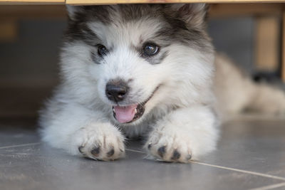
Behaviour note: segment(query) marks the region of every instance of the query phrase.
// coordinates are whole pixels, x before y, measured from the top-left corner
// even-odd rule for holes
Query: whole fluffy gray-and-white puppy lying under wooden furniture
[[[147,137],[147,154],[167,162],[189,162],[214,150],[217,111],[239,112],[251,103],[260,108],[263,97],[227,58],[214,61],[206,9],[68,6],[61,84],[41,112],[43,140],[105,161],[124,157],[126,137]],[[283,100],[276,103],[279,111],[285,97],[276,92]]]

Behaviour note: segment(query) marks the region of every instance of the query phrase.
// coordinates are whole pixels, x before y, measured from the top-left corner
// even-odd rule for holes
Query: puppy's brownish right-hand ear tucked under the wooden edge
[[[207,4],[170,4],[172,16],[182,19],[191,27],[204,28],[209,6]]]

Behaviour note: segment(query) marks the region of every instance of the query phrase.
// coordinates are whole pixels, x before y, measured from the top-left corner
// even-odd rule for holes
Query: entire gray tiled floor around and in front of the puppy
[[[40,142],[34,120],[0,120],[0,189],[285,189],[285,120],[235,120],[219,149],[190,164],[144,159],[140,142],[115,162]]]

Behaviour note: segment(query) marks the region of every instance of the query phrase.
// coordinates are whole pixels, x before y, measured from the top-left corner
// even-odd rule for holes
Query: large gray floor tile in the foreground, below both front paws
[[[250,189],[281,180],[127,152],[115,162],[71,157],[45,144],[0,150],[0,189]]]

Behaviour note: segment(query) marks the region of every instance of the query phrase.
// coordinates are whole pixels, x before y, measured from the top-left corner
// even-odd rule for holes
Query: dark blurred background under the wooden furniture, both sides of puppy
[[[208,31],[217,51],[254,80],[281,83],[281,4],[213,4]],[[0,6],[0,119],[34,120],[58,83],[65,6]]]

